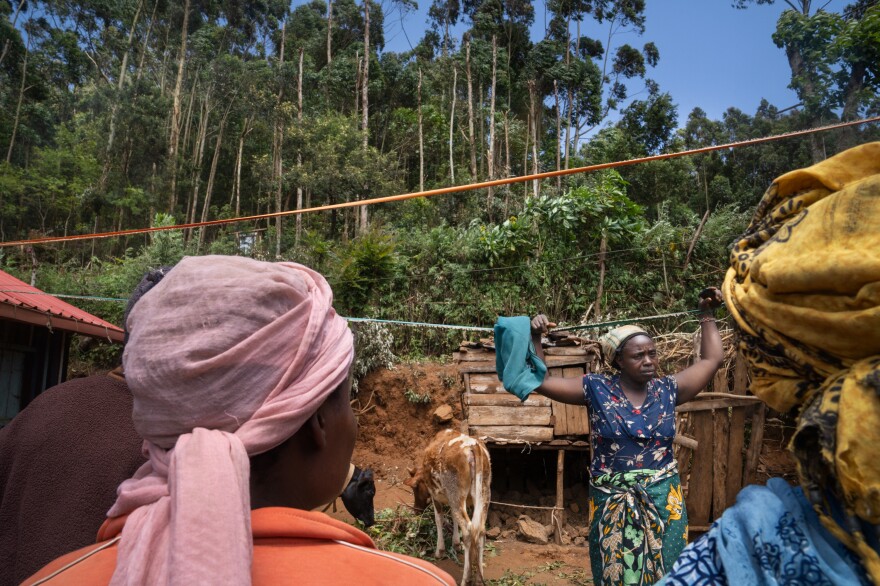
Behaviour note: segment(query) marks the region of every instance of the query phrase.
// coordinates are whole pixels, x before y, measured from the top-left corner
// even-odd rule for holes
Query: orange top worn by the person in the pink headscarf
[[[98,544],[43,567],[24,584],[109,584],[127,517],[108,519]],[[370,537],[323,513],[282,507],[251,511],[254,586],[286,583],[370,586],[455,586],[452,577],[423,560],[376,549]]]

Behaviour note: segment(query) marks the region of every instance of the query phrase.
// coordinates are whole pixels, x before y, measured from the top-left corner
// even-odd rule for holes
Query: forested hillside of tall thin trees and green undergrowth
[[[679,112],[652,79],[662,55],[645,0],[433,0],[407,52],[385,50],[384,21],[414,0],[0,0],[0,243],[357,202],[880,114],[880,2],[775,1],[786,10],[773,42],[791,70],[779,82],[799,103],[713,120]],[[124,303],[105,298],[201,254],[309,265],[351,317],[489,327],[539,311],[569,324],[663,314],[721,282],[775,177],[871,140],[877,123],[396,203],[2,246],[0,269],[95,297],[73,303],[117,324]],[[402,355],[462,337],[390,331]]]

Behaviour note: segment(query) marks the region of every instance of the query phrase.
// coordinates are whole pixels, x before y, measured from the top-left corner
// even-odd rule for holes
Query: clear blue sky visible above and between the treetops
[[[418,3],[419,9],[403,18],[388,0],[383,3],[386,51],[409,50],[424,35],[431,0]],[[830,0],[826,10],[840,11],[847,3]],[[649,41],[657,45],[660,61],[648,76],[678,104],[679,125],[695,107],[715,120],[730,107],[753,115],[762,98],[788,108],[798,100],[787,87],[791,70],[785,51],[772,39],[787,7],[782,0],[746,10],[733,8],[730,0],[648,0],[645,33],[631,34],[627,42],[639,48]],[[533,40],[543,36],[546,18],[544,2],[536,0]],[[585,23],[581,33],[604,39],[607,30],[601,26]]]

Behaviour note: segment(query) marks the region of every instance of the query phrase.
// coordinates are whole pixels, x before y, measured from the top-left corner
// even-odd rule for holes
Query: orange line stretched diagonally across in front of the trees
[[[345,203],[337,203],[325,206],[318,206],[313,208],[305,208],[299,210],[290,210],[286,212],[272,212],[268,214],[259,214],[256,216],[244,216],[239,218],[230,218],[226,220],[210,220],[207,222],[192,222],[189,224],[176,224],[174,226],[156,226],[153,228],[133,228],[131,230],[118,230],[115,232],[100,232],[96,234],[74,234],[70,236],[55,236],[55,237],[46,237],[46,238],[32,238],[30,240],[12,240],[8,242],[0,242],[0,248],[9,247],[9,246],[24,246],[24,245],[33,245],[33,244],[49,244],[52,242],[70,242],[74,240],[96,240],[98,238],[113,238],[116,236],[132,236],[134,234],[146,234],[149,232],[162,232],[166,230],[187,230],[191,228],[202,228],[206,226],[219,226],[222,224],[235,224],[238,222],[249,222],[253,220],[262,220],[268,218],[277,218],[281,216],[292,216],[295,214],[306,214],[311,212],[320,212],[326,210],[336,210],[341,208],[352,208],[359,207],[365,205],[373,205],[378,203],[388,203],[392,201],[403,201],[406,199],[414,199],[417,197],[431,197],[433,195],[444,195],[447,193],[455,193],[459,191],[473,191],[475,189],[485,189],[487,187],[497,187],[500,185],[510,185],[513,183],[525,183],[528,181],[538,181],[541,179],[548,179],[550,177],[561,177],[564,175],[574,175],[576,173],[588,173],[591,171],[599,171],[601,169],[613,169],[615,167],[625,167],[629,165],[637,165],[639,163],[647,163],[649,161],[662,161],[665,159],[674,159],[677,157],[684,157],[689,155],[697,155],[700,153],[708,153],[712,151],[718,151],[722,149],[732,149],[738,148],[742,146],[749,146],[754,144],[761,144],[765,142],[771,142],[774,140],[781,140],[783,138],[792,138],[795,136],[803,136],[806,134],[812,134],[814,132],[824,132],[826,130],[834,130],[836,128],[845,128],[847,126],[856,126],[859,124],[867,124],[869,122],[880,122],[880,116],[874,116],[873,118],[864,118],[862,120],[854,120],[851,122],[841,122],[838,124],[830,124],[827,126],[820,126],[818,128],[810,128],[807,130],[795,130],[792,132],[786,132],[783,134],[777,134],[773,136],[766,136],[762,138],[752,138],[749,140],[742,140],[738,142],[731,142],[722,145],[714,145],[701,147],[698,149],[691,149],[688,151],[680,151],[677,153],[665,153],[662,155],[652,155],[650,157],[640,157],[638,159],[628,159],[625,161],[615,161],[612,163],[600,163],[598,165],[588,165],[586,167],[576,167],[574,169],[561,169],[559,171],[547,171],[545,173],[535,173],[533,175],[520,175],[518,177],[506,177],[504,179],[496,179],[494,181],[482,181],[480,183],[471,183],[469,185],[454,185],[452,187],[441,187],[439,189],[429,189],[427,191],[416,191],[413,193],[403,193],[399,195],[390,195],[386,197],[376,197],[372,199],[363,199],[359,201],[349,201]]]

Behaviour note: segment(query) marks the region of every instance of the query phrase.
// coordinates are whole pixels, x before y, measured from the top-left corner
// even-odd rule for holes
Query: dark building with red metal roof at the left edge
[[[0,271],[0,427],[67,379],[72,334],[121,343],[121,328]]]

